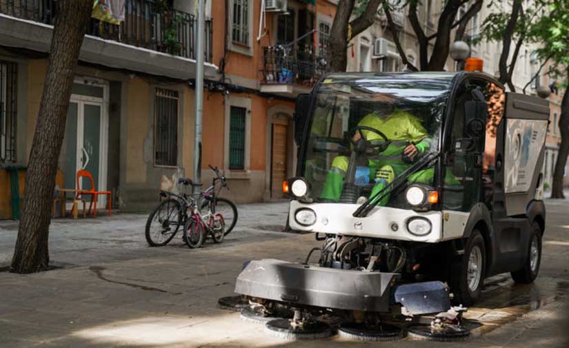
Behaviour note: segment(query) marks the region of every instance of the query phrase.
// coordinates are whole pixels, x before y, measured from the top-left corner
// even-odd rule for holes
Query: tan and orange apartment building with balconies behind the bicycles
[[[132,211],[192,175],[196,2],[126,0],[119,23],[92,19],[59,187],[75,188],[86,169],[114,207]],[[206,1],[204,184],[212,164],[225,170],[234,201],[282,198],[295,170],[295,96],[323,73],[336,2]],[[0,0],[0,218],[21,203],[56,15],[53,0]]]

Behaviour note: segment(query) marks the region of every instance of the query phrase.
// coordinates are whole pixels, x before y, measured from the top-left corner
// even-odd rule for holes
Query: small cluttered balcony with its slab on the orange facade
[[[263,48],[261,92],[296,97],[309,92],[326,73],[326,59],[294,45]]]

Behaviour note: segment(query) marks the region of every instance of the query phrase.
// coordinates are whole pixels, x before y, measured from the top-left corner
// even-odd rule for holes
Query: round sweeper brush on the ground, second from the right
[[[360,340],[364,342],[377,342],[386,340],[400,340],[405,337],[399,327],[386,324],[366,325],[346,323],[339,327],[338,335],[348,340]]]

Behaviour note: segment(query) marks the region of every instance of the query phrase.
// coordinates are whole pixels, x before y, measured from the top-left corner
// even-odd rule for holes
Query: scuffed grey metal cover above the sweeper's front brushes
[[[235,292],[292,305],[385,312],[390,309],[390,289],[398,276],[263,259],[243,269]]]

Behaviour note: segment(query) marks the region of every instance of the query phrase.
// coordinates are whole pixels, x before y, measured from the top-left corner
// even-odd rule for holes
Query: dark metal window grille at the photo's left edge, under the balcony
[[[0,61],[0,163],[16,161],[17,64]]]

